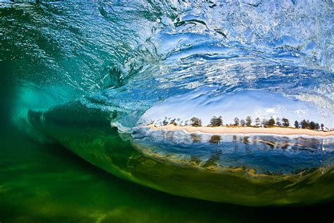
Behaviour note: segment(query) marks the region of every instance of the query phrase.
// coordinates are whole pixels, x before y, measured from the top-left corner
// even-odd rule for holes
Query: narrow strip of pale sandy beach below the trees
[[[235,133],[235,134],[275,134],[275,135],[314,135],[314,136],[330,136],[334,135],[334,131],[314,131],[304,128],[280,128],[280,127],[271,127],[271,128],[255,128],[255,127],[242,127],[242,126],[174,126],[172,124],[167,126],[154,126],[148,125],[152,130],[185,130],[189,133],[202,132],[202,133],[216,133],[216,134],[225,134],[225,133]]]

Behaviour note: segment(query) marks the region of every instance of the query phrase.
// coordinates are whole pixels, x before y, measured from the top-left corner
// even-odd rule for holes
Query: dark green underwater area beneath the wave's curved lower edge
[[[123,181],[59,145],[1,134],[1,222],[331,222],[333,204],[243,207],[180,198]]]

